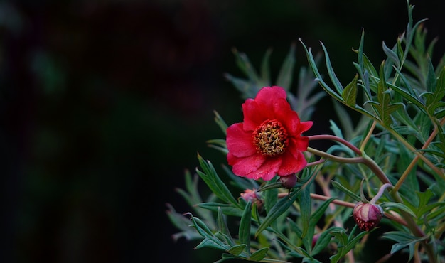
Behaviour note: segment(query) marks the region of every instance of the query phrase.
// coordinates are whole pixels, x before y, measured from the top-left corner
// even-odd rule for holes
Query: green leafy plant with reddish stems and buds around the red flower
[[[250,178],[250,174],[236,175],[225,164],[221,176],[213,163],[198,155],[195,175],[186,172],[186,189],[178,190],[191,210],[177,213],[168,205],[168,216],[180,230],[173,238],[200,240],[198,249],[221,250],[219,262],[321,262],[326,257],[330,262],[355,262],[364,260],[369,235],[385,226],[379,238],[392,242],[392,247],[380,262],[390,262],[396,253],[406,254],[407,261],[445,262],[444,60],[433,65],[435,41],[426,43],[423,20],[414,23],[409,1],[407,9],[406,31],[392,47],[382,43],[387,57],[378,65],[365,55],[363,31],[358,49],[353,50],[356,73],[347,85],[336,77],[323,43],[327,77],[322,74],[321,56],[314,56],[300,40],[309,68],[301,68],[295,95],[291,92],[295,44],[274,82],[270,50],[260,74],[247,55],[234,50],[247,78],[226,77],[245,99],[252,100],[262,87],[274,83],[286,91],[291,108],[306,121],[321,97],[329,95],[341,123],[331,121],[332,134],[308,136],[307,164],[289,175],[297,179],[290,187],[283,183],[287,175]],[[345,109],[360,114],[358,122]],[[229,138],[230,126],[217,112],[215,122]],[[314,149],[315,140],[328,140],[333,146]],[[208,143],[232,154],[226,139]],[[205,200],[199,179],[211,190]],[[237,222],[237,232],[230,231],[228,222]]]

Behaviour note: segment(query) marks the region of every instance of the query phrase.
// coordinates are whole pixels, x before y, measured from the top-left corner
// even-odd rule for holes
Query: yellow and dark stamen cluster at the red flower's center
[[[289,144],[286,129],[276,119],[268,119],[259,125],[252,139],[259,154],[269,157],[284,153]]]

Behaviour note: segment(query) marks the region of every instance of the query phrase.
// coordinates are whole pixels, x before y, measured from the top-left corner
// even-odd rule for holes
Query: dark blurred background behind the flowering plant
[[[438,61],[445,4],[411,4]],[[275,79],[291,43],[297,73],[299,38],[315,53],[322,41],[344,84],[362,28],[380,65],[406,25],[405,0],[0,1],[0,261],[214,262],[220,252],[173,242],[166,203],[188,212],[175,188],[198,153],[225,162],[205,141],[224,138],[213,110],[242,121],[223,77],[245,77],[232,48],[256,67],[273,48]],[[311,133],[330,132],[330,103]]]

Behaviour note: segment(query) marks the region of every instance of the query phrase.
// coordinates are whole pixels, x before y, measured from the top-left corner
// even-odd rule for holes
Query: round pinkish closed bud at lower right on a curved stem
[[[358,202],[353,210],[353,218],[360,230],[374,229],[382,219],[383,210],[380,205]]]

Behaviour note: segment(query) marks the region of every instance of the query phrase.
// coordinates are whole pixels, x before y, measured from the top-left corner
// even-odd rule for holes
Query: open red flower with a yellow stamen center
[[[227,161],[237,176],[271,180],[288,176],[307,164],[303,151],[309,138],[301,133],[312,122],[300,122],[282,87],[263,87],[242,104],[244,122],[227,128]]]

